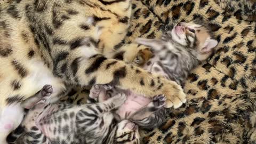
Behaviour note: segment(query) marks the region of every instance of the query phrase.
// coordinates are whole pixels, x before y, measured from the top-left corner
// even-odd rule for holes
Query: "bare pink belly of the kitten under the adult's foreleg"
[[[118,109],[117,113],[121,117],[121,119],[129,118],[136,111],[145,107],[152,100],[149,98],[143,97],[143,95],[135,94],[133,92],[127,93],[127,100],[124,104]]]

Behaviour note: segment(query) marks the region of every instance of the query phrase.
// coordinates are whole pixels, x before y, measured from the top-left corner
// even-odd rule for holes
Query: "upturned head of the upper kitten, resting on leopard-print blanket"
[[[179,22],[167,34],[171,35],[173,41],[194,50],[198,60],[209,58],[213,48],[218,45],[203,21]]]

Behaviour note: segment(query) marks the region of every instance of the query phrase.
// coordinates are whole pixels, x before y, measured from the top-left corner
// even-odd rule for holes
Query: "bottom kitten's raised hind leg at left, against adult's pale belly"
[[[25,101],[21,103],[22,108],[30,109],[31,107],[35,106],[41,100],[45,100],[45,98],[50,97],[52,94],[52,86],[51,85],[44,85],[43,89],[38,91],[32,97],[29,97]]]

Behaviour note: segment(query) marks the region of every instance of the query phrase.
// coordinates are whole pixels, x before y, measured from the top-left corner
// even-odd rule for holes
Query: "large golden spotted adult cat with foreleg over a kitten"
[[[45,84],[53,86],[50,101],[67,84],[111,83],[150,97],[165,94],[167,107],[186,102],[177,83],[109,59],[122,45],[130,18],[131,0],[17,0],[3,9],[0,143],[22,121],[19,103]]]

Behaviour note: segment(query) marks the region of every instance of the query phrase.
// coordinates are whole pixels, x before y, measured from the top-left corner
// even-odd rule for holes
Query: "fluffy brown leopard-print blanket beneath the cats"
[[[6,2],[0,0],[1,6]],[[158,129],[142,131],[144,143],[256,143],[256,4],[250,0],[227,2],[132,2],[126,42],[135,37],[157,38],[166,26],[198,17],[210,21],[219,41],[217,52],[189,75],[186,105],[172,110]],[[84,103],[88,93],[74,89],[63,100]]]

